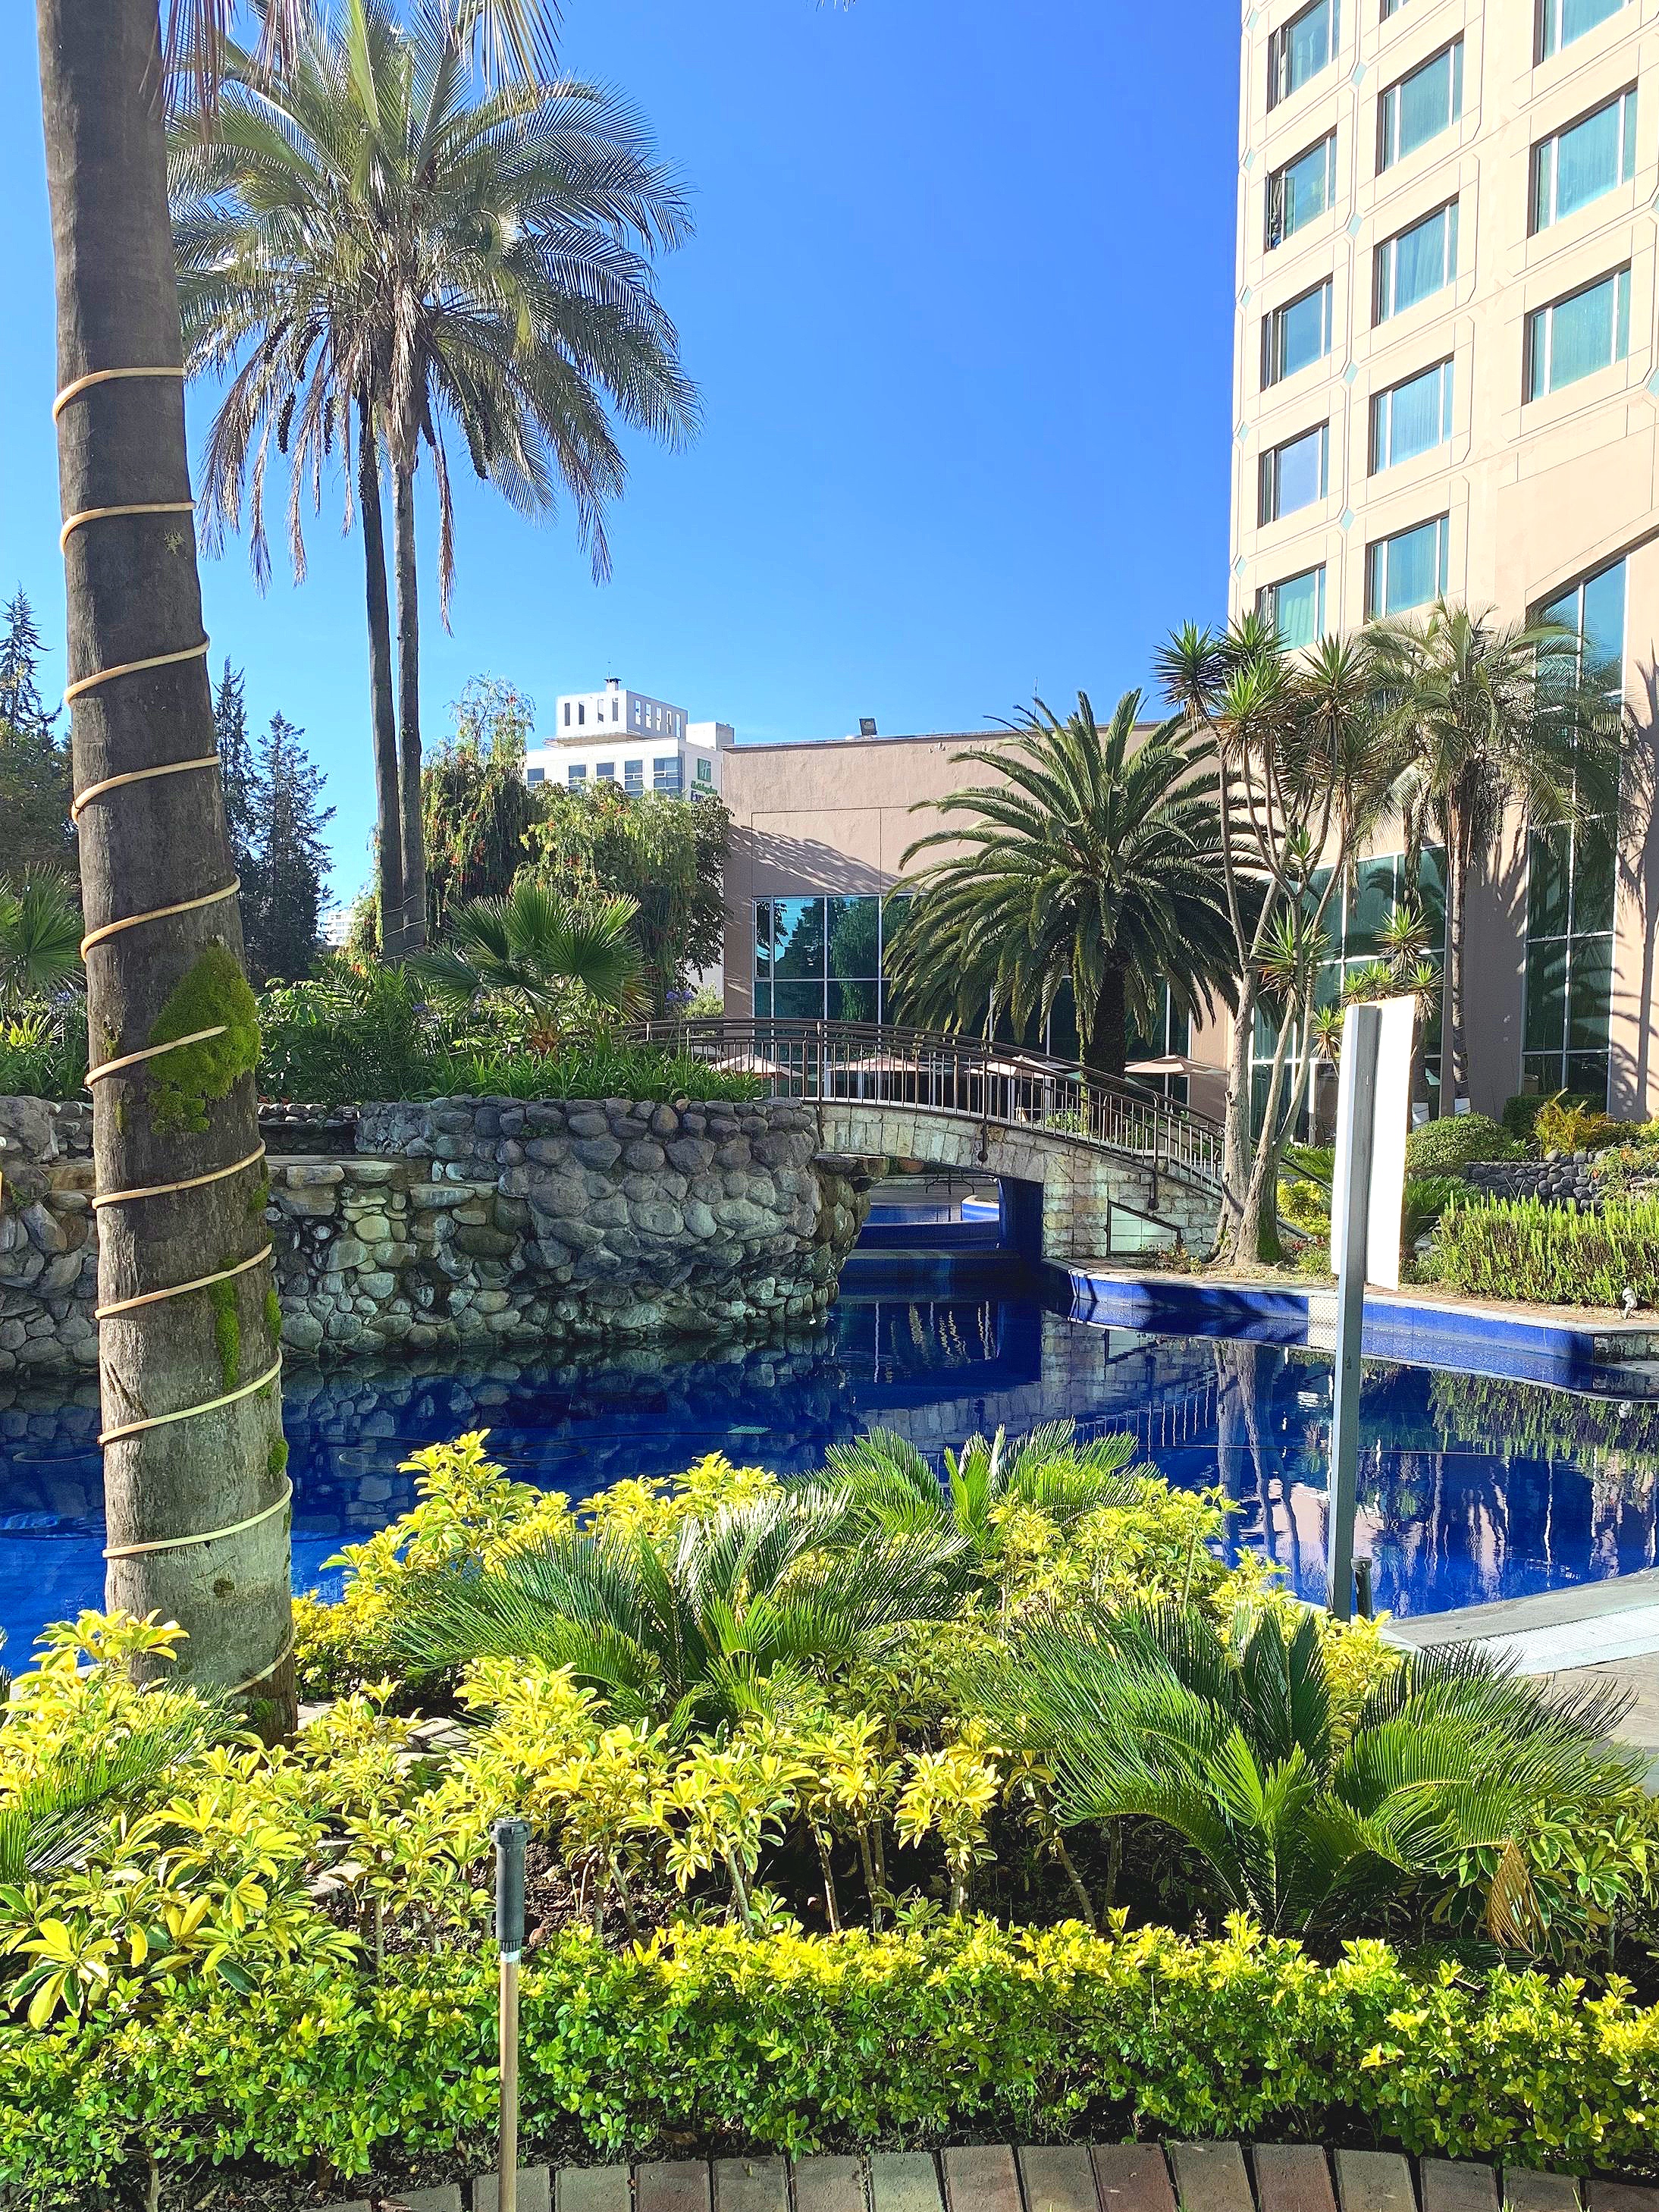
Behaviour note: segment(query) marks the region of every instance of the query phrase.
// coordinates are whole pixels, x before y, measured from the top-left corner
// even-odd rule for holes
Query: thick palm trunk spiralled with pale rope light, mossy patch
[[[177,367],[155,0],[38,0],[38,31],[58,385]],[[111,378],[77,392],[58,420],[58,473],[66,515],[142,502],[181,509],[91,520],[69,535],[71,688],[179,655],[75,699],[75,787],[212,757],[208,670],[192,653],[204,630],[181,380]],[[91,801],[80,869],[91,936],[221,891],[232,867],[217,776],[150,776]],[[230,1270],[265,1243],[263,1170],[237,1166],[259,1150],[257,1031],[239,962],[234,898],[117,929],[86,953],[93,1062],[226,1024],[206,1051],[186,1046],[93,1084],[102,1307]],[[195,1177],[212,1179],[113,1203],[117,1192]],[[106,1429],[226,1398],[268,1374],[274,1321],[268,1261],[212,1290],[102,1318]],[[108,1604],[177,1619],[188,1641],[175,1679],[248,1692],[268,1730],[294,1717],[283,1464],[276,1383],[111,1440],[104,1453]],[[188,1542],[221,1528],[230,1533]],[[161,1672],[155,1661],[148,1670]]]

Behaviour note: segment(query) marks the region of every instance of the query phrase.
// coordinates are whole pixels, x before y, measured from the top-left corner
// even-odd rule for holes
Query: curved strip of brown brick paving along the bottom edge
[[[520,2212],[1659,2212],[1659,2188],[1316,2143],[973,2143],[524,2168]],[[498,2212],[495,2177],[323,2212]]]

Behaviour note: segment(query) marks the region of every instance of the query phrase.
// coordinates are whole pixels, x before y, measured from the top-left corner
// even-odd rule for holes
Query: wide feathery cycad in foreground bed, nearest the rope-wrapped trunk
[[[666,1542],[571,1533],[411,1595],[400,1646],[427,1666],[509,1657],[568,1666],[622,1717],[737,1719],[779,1672],[834,1668],[898,1621],[960,1599],[962,1546],[847,1548],[847,1506],[781,1493],[686,1520]]]

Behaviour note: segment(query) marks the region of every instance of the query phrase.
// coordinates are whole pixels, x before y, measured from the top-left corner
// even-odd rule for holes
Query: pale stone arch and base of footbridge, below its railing
[[[821,1099],[814,1113],[830,1155],[898,1164],[889,1172],[995,1177],[1004,1190],[1004,1225],[1013,1225],[1011,1241],[1029,1259],[1066,1265],[1168,1248],[1170,1230],[1179,1230],[1194,1252],[1214,1243],[1214,1186],[1166,1161],[1068,1130],[987,1121],[940,1106]]]

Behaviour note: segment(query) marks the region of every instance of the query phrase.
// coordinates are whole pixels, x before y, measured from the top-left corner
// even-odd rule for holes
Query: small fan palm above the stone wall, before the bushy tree
[[[434,1000],[465,1009],[480,998],[522,1006],[551,1033],[580,987],[606,1013],[635,1020],[650,1006],[646,964],[628,925],[633,898],[575,900],[529,878],[507,898],[469,898],[449,914],[449,942],[409,967]]]

